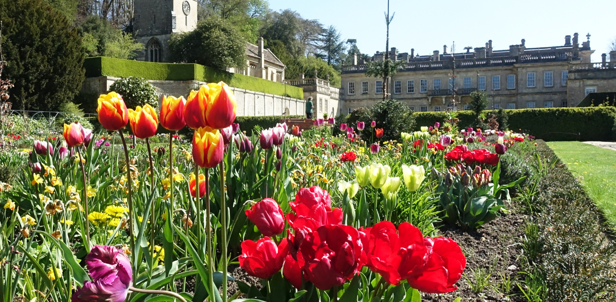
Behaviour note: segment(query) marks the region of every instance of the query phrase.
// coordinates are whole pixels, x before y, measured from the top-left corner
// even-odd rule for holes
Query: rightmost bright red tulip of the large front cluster
[[[407,279],[408,284],[425,293],[453,292],[466,267],[460,246],[443,237],[426,237],[424,243],[428,248],[428,263],[423,272]]]

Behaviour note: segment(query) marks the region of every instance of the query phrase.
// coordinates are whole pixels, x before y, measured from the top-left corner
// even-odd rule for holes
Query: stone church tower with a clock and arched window
[[[134,33],[145,49],[136,59],[169,62],[169,38],[172,33],[197,27],[197,0],[134,0]]]

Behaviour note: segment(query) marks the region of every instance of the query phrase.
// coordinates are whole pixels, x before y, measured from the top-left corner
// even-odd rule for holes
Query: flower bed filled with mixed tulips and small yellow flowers
[[[71,123],[63,140],[5,151],[29,164],[16,161],[23,173],[1,184],[0,243],[12,247],[0,251],[4,300],[452,301],[522,291],[506,286],[519,279],[509,267],[522,264],[504,237],[523,225],[512,195],[529,183],[516,163],[532,137],[451,121],[368,146],[362,133],[375,123],[332,136],[333,119],[246,136],[234,103],[224,83],[187,101],[165,97],[160,113],[126,110],[110,92],[99,120],[122,148]],[[192,141],[173,135],[186,124]],[[139,138],[132,147],[127,125]],[[169,144],[152,150],[159,125]]]

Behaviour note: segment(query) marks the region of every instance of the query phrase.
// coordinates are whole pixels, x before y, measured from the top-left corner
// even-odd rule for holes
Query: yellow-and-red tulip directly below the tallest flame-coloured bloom
[[[193,134],[193,159],[201,168],[214,168],[222,161],[224,141],[219,130],[199,128]]]

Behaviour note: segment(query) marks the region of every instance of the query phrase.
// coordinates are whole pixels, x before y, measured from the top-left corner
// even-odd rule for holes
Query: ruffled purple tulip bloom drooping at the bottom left
[[[108,245],[95,245],[86,256],[86,266],[93,281],[85,281],[71,302],[123,302],[132,282],[131,261],[124,251]]]

